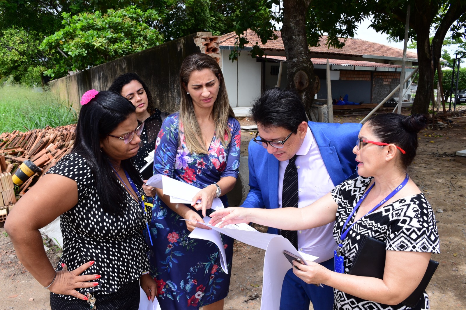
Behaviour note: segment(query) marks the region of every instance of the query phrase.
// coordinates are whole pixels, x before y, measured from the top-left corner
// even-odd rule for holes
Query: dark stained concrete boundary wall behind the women
[[[120,74],[136,72],[150,89],[156,107],[174,112],[179,102],[179,69],[186,56],[200,52],[196,34],[173,40],[142,52],[89,68],[48,84],[59,98],[79,109],[82,94],[89,89],[106,90]],[[246,58],[246,57],[245,57]]]

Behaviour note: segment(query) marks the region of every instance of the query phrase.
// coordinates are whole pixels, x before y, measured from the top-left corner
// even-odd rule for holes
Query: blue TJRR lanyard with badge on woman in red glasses
[[[389,200],[391,197],[393,197],[400,189],[402,189],[406,185],[406,183],[408,183],[408,180],[409,180],[409,177],[408,177],[408,175],[406,175],[403,182],[401,182],[401,184],[398,185],[396,189],[394,189],[390,194],[388,194],[388,196],[386,196],[381,202],[379,202],[377,204],[377,206],[370,209],[369,212],[367,212],[365,215],[360,217],[357,221],[359,221],[364,216],[367,216],[368,214],[372,213],[377,208],[379,208],[381,205],[383,205],[387,200]],[[342,254],[342,248],[343,248],[343,240],[345,240],[346,236],[348,235],[349,230],[354,226],[354,224],[356,224],[357,221],[354,221],[347,229],[345,229],[345,227],[348,225],[349,221],[351,220],[351,217],[356,212],[356,210],[359,208],[359,206],[364,201],[367,194],[369,194],[370,190],[374,187],[374,185],[375,185],[375,182],[372,183],[370,188],[364,193],[364,195],[361,197],[361,199],[359,199],[359,201],[356,203],[356,206],[354,207],[353,211],[351,211],[348,218],[346,219],[346,222],[343,224],[342,234],[340,236],[340,243],[338,244],[338,248],[335,250],[335,254],[334,254],[335,255],[335,272],[344,273],[344,270],[343,270],[343,256],[341,255]]]

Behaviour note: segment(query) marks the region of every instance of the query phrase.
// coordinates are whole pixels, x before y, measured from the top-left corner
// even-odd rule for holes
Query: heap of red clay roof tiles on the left
[[[60,158],[67,155],[75,141],[76,125],[67,125],[57,128],[47,126],[43,129],[34,129],[27,132],[15,130],[12,133],[0,135],[0,173],[8,172],[11,175],[22,162],[30,160],[41,168],[26,182],[19,186],[17,192],[24,195],[48,169],[55,165]]]

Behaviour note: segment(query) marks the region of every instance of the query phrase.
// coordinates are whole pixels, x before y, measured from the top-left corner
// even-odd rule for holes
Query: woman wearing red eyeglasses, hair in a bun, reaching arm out
[[[333,287],[335,310],[429,309],[427,294],[422,292],[425,286],[416,289],[432,253],[439,253],[439,234],[432,207],[407,173],[416,156],[417,133],[426,123],[425,115],[374,116],[361,128],[353,148],[359,177],[341,183],[305,208],[227,208],[212,213],[210,223],[223,221],[223,227],[255,222],[299,230],[336,221],[335,270],[295,261],[296,276],[306,283]],[[381,278],[350,274],[358,249],[368,237],[384,244]],[[372,250],[366,249],[371,260],[380,259]],[[419,293],[413,301],[408,297],[415,290]]]

